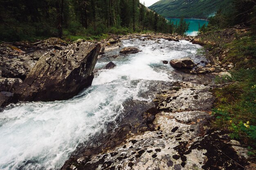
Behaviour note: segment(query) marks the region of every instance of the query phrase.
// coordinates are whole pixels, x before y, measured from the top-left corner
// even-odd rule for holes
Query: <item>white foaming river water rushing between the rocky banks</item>
[[[0,169],[59,169],[80,142],[106,128],[108,122],[122,114],[122,103],[139,98],[148,80],[179,81],[173,68],[162,60],[191,57],[195,62],[199,45],[188,41],[159,42],[139,39],[122,41],[122,47],[136,46],[142,52],[110,57],[109,52],[96,65],[103,68],[109,61],[117,67],[99,70],[91,87],[70,100],[27,102],[0,113]],[[121,47],[121,48],[122,48]],[[134,84],[134,80],[139,83]]]

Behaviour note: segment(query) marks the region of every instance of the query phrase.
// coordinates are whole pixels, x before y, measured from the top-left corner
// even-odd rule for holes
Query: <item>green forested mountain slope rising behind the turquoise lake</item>
[[[185,17],[206,19],[231,0],[160,0],[148,7],[164,17]]]

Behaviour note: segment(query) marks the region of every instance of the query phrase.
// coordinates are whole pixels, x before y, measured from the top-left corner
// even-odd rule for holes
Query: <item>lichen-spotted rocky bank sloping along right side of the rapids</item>
[[[221,86],[153,81],[153,103],[129,101],[119,127],[77,148],[62,169],[244,169],[247,149],[207,127],[210,91]]]

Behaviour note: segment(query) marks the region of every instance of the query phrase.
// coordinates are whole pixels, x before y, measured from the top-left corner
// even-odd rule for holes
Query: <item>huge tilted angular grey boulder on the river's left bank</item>
[[[81,42],[45,53],[14,92],[17,101],[65,100],[92,84],[101,46]]]

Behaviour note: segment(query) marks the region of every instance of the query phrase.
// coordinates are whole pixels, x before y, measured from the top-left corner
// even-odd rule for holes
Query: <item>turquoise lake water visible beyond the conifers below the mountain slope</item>
[[[179,24],[179,18],[166,18],[167,20],[171,20],[174,24],[177,22]],[[197,35],[199,25],[202,26],[203,24],[208,24],[207,20],[198,20],[198,19],[184,19],[186,22],[189,22],[189,31],[186,32],[187,35]]]

